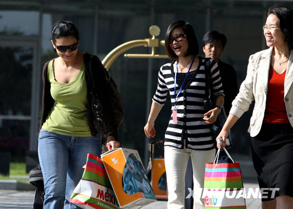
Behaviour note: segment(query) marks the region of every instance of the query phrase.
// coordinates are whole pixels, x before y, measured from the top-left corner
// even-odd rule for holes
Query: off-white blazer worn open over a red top
[[[255,105],[253,108],[250,127],[251,137],[256,136],[263,123],[268,80],[271,65],[271,55],[273,47],[257,52],[250,56],[247,66],[247,75],[240,86],[239,93],[232,102],[230,113],[240,118],[244,112],[249,109],[253,100]],[[285,82],[284,82],[284,101],[287,111],[287,116],[290,124],[293,126],[293,50],[287,65]]]

